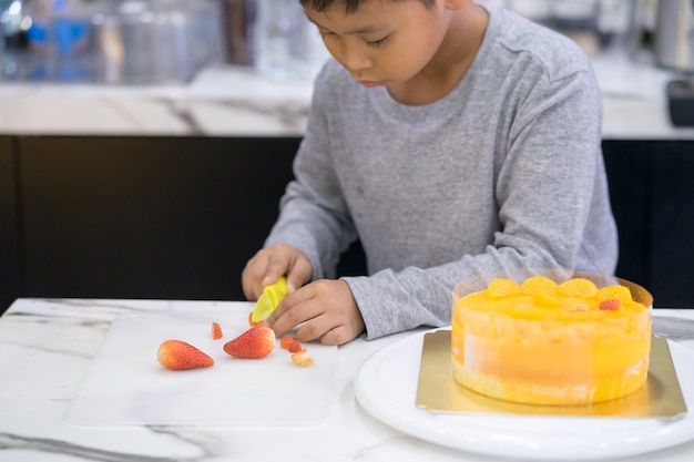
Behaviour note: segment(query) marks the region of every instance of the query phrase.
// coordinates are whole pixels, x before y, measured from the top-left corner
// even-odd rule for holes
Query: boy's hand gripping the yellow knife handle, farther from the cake
[[[313,274],[313,265],[300,250],[286,244],[275,244],[258,250],[246,263],[241,280],[246,298],[257,300],[263,288],[282,276],[286,276],[287,291],[292,294],[308,283]]]

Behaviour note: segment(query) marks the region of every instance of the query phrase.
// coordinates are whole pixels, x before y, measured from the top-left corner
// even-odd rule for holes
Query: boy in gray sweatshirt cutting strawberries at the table
[[[345,343],[448,326],[459,281],[512,268],[612,274],[602,103],[569,39],[472,0],[302,0],[335,59],[296,179],[243,271],[286,275],[267,322]],[[369,276],[325,279],[359,238]],[[307,284],[308,283],[308,284]]]

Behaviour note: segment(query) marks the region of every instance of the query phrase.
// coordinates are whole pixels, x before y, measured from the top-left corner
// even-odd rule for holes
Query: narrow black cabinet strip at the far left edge
[[[0,314],[20,292],[14,140],[0,136]]]

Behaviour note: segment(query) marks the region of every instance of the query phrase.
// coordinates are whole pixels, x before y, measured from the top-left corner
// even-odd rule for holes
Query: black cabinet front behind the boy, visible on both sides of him
[[[0,137],[0,302],[243,299],[299,138]],[[694,307],[694,142],[605,141],[616,275]],[[339,275],[365,271],[358,243]]]

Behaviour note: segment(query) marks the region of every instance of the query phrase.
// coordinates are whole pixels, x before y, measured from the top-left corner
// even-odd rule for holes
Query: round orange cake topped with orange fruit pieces
[[[646,381],[650,308],[622,285],[493,279],[455,302],[453,378],[478,393],[529,404],[624,397]]]

